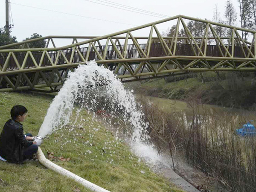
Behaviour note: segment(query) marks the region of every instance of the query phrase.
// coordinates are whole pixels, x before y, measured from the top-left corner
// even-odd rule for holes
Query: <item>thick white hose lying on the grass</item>
[[[70,177],[71,179],[75,180],[76,182],[80,183],[81,185],[85,186],[87,189],[90,189],[91,191],[94,192],[110,192],[106,189],[101,188],[100,186],[97,186],[93,183],[91,183],[90,181],[87,181],[85,179],[83,179],[82,177],[79,177],[78,175],[73,174],[72,172],[52,163],[51,161],[49,161],[47,158],[45,158],[43,151],[41,150],[40,147],[38,147],[38,151],[37,151],[37,157],[39,162],[46,166],[48,169],[52,169],[53,171],[61,174],[61,175],[65,175],[67,177]]]

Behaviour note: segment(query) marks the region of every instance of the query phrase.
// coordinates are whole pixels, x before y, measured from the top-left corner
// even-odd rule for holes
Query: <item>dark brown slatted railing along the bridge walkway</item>
[[[169,47],[171,46],[171,44],[167,44]],[[184,56],[196,56],[195,53],[193,52],[192,46],[194,47],[195,51],[198,52],[198,48],[193,44],[177,44],[177,49],[176,49],[176,55],[184,55]],[[116,45],[117,49],[120,52],[123,52],[124,50],[124,46],[121,45]],[[143,49],[143,51],[146,50],[146,44],[140,44],[141,49]],[[221,46],[220,46],[221,47]],[[227,48],[227,47],[226,47]],[[105,50],[105,46],[96,46],[96,49],[98,50],[98,52],[102,55],[103,51]],[[229,47],[229,52],[231,52],[232,47]],[[244,49],[244,50],[242,50]],[[84,56],[84,58],[86,57],[87,51],[88,51],[88,47],[83,47],[83,48],[79,48],[81,54]],[[204,46],[202,47],[202,50],[204,50]],[[222,52],[225,52],[224,47],[221,47]],[[254,47],[252,47],[252,52],[254,52]],[[55,63],[56,60],[56,56],[57,56],[57,52],[56,51],[49,51],[49,56],[52,59],[52,62]],[[65,57],[67,58],[67,60],[70,60],[71,54],[72,54],[72,49],[65,49],[63,50],[63,53],[65,55]],[[116,51],[114,51],[114,47],[112,45],[108,46],[107,52],[106,52],[106,58],[105,60],[116,60],[119,59],[119,55],[116,54]],[[245,48],[242,48],[240,46],[234,46],[234,57],[235,58],[246,58],[244,56],[244,53],[247,55],[248,51]],[[32,52],[35,61],[39,64],[40,60],[41,60],[41,56],[43,54],[42,51],[39,52]],[[7,58],[7,53],[5,55],[2,55],[0,57],[0,66],[3,67],[6,58]],[[140,57],[140,52],[136,49],[136,47],[134,46],[134,44],[130,44],[127,47],[126,50],[126,55],[127,58],[141,58]],[[16,52],[15,56],[17,58],[17,61],[22,64],[23,60],[26,56],[26,52]],[[151,44],[151,49],[150,49],[150,54],[149,57],[161,57],[161,56],[166,56],[166,53],[164,52],[163,47],[161,46],[160,43],[155,43],[155,44]],[[206,56],[210,56],[210,57],[222,57],[221,52],[219,50],[219,47],[217,45],[207,45],[207,52],[206,52]],[[94,51],[94,49],[91,47],[90,48],[90,53],[89,53],[89,61],[95,59],[96,61],[100,60],[98,55],[96,54],[96,52]],[[15,64],[15,60],[14,58],[10,58],[9,60],[10,64],[8,65],[6,71],[10,71],[10,70],[18,70],[17,65]],[[81,61],[81,58],[79,57],[78,52],[74,53],[74,57],[73,57],[73,63],[79,63],[79,62],[83,62]],[[64,59],[64,57],[62,55],[59,56],[58,61],[57,61],[57,65],[58,64],[66,64],[66,61]],[[109,63],[110,65],[115,64],[115,63]],[[136,64],[136,63],[134,63]],[[44,57],[44,60],[42,62],[42,67],[44,66],[51,66],[51,62],[49,61],[49,59],[47,57]],[[35,64],[32,61],[32,58],[28,57],[27,61],[26,61],[26,68],[35,68]]]

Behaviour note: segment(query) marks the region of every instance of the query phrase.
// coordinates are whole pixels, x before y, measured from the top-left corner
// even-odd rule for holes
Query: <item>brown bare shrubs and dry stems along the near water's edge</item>
[[[200,99],[189,100],[189,110],[164,112],[140,98],[149,122],[151,140],[158,151],[169,150],[173,158],[213,175],[232,192],[256,191],[256,138],[239,137],[236,128],[250,117],[201,108]]]

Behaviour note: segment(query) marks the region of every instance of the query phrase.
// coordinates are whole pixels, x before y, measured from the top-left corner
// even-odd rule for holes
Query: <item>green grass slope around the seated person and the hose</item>
[[[0,93],[0,131],[9,119],[13,105],[24,105],[29,116],[23,122],[25,132],[36,135],[47,113],[52,95]],[[122,140],[115,140],[99,121],[81,112],[83,125],[70,123],[44,140],[45,156],[57,165],[111,192],[182,192],[165,178],[156,175],[131,153]],[[75,118],[74,116],[72,118]],[[54,153],[50,158],[47,152]],[[68,158],[61,161],[58,157]],[[141,171],[145,172],[142,174]],[[0,192],[73,192],[88,190],[38,161],[23,165],[0,162]]]

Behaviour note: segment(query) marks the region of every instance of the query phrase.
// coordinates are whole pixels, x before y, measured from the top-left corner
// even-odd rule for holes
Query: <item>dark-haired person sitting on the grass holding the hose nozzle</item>
[[[11,110],[12,119],[9,119],[0,135],[0,160],[10,163],[23,163],[32,158],[41,145],[41,140],[32,134],[23,134],[20,122],[26,118],[28,110],[22,105],[15,105]],[[1,158],[2,157],[2,158]]]

